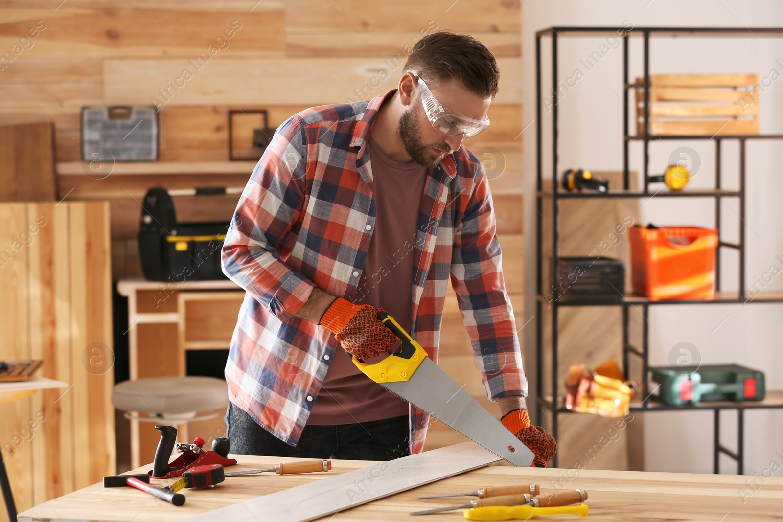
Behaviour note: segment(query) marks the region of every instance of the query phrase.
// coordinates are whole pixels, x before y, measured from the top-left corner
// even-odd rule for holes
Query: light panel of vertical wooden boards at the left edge
[[[116,470],[108,214],[105,202],[0,203],[0,359],[41,358],[40,375],[70,385],[0,405],[20,511]]]

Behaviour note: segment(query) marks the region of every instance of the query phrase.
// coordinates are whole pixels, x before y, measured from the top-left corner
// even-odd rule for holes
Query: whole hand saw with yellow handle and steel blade
[[[533,453],[527,446],[438,368],[391,315],[381,311],[380,319],[402,341],[402,350],[376,364],[353,358],[362,373],[514,466],[530,466]]]

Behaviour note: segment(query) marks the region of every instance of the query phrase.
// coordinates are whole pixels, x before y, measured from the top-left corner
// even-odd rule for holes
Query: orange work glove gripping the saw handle
[[[323,312],[320,326],[334,332],[334,338],[357,359],[369,359],[388,353],[397,336],[378,317],[383,308],[359,304],[337,297]]]

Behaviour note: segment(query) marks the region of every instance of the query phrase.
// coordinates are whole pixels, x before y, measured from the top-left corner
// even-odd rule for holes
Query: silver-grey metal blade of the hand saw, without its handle
[[[530,449],[431,358],[424,358],[409,380],[381,386],[514,466],[532,464],[534,455]]]

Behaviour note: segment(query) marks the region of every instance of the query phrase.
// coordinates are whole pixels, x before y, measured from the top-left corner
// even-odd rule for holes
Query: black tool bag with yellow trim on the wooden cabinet
[[[178,223],[171,196],[210,196],[241,193],[242,189],[149,189],[142,205],[139,257],[150,281],[226,279],[220,250],[230,221]]]

